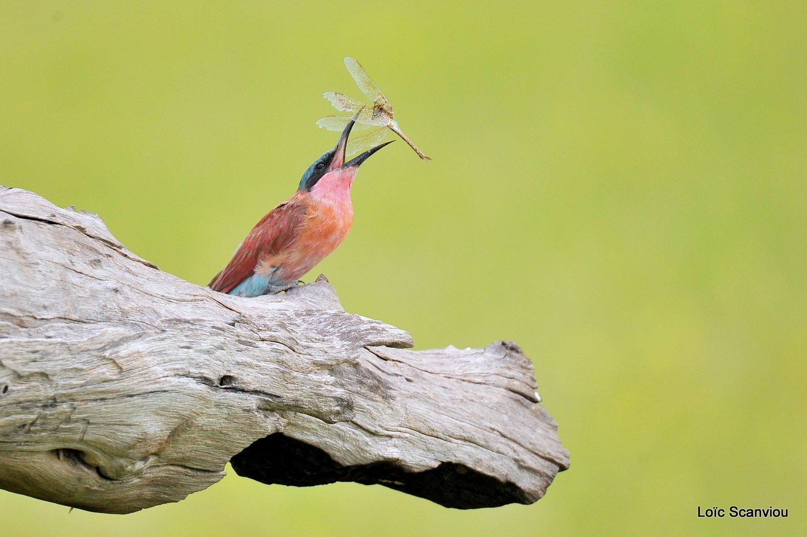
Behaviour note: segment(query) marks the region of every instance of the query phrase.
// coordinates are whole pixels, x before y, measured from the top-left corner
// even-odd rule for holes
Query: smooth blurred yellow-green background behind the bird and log
[[[418,348],[512,339],[572,466],[533,506],[233,472],[127,516],[0,491],[4,535],[807,535],[807,4],[0,2],[0,184],[206,285],[337,140],[403,143],[325,273]],[[788,508],[706,520],[697,506]]]

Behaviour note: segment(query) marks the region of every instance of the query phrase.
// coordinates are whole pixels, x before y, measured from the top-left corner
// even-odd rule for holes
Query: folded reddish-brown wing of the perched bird
[[[294,242],[306,218],[307,210],[299,202],[281,203],[255,224],[232,260],[215,275],[210,288],[229,293],[255,271],[261,259],[276,255]]]

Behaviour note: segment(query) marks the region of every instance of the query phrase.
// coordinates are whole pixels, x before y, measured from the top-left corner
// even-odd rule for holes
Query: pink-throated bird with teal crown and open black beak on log
[[[358,167],[385,145],[345,162],[348,123],[337,147],[303,173],[299,189],[269,211],[218,273],[210,288],[239,297],[257,297],[291,289],[303,274],[333,252],[353,225],[350,187]]]

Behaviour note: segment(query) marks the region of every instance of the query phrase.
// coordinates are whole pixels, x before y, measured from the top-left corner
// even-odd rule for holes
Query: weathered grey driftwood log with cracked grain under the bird
[[[0,488],[129,513],[224,476],[378,483],[445,506],[540,498],[568,453],[516,345],[401,350],[327,281],[237,298],[94,214],[0,187]]]

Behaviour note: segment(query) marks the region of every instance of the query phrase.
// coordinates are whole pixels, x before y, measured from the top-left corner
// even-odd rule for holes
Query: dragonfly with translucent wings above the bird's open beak
[[[316,124],[328,129],[328,131],[342,131],[345,129],[345,126],[350,123],[350,120],[355,117],[356,123],[353,127],[353,131],[372,129],[370,132],[365,132],[355,138],[349,139],[347,148],[349,155],[358,153],[363,148],[380,144],[381,140],[387,135],[387,129],[389,129],[399,135],[404,142],[409,144],[409,147],[414,149],[417,156],[420,156],[421,159],[432,160],[429,156],[425,156],[423,152],[412,143],[412,140],[400,130],[398,122],[395,121],[395,113],[392,111],[390,102],[384,96],[383,92],[378,89],[378,86],[375,85],[362,65],[348,56],[345,58],[345,67],[348,68],[348,73],[350,73],[350,76],[356,81],[359,90],[362,90],[362,93],[373,102],[373,106],[367,105],[345,94],[337,94],[335,91],[326,91],[322,96],[328,99],[334,108],[349,112],[351,115],[328,115],[317,121]]]

